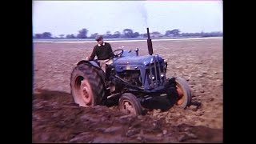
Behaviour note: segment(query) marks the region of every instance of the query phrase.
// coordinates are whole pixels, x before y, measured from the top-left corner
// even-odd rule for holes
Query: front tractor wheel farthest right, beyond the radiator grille
[[[186,108],[186,106],[190,106],[192,100],[192,94],[190,90],[190,86],[185,79],[177,77],[176,81],[176,90],[178,92],[178,101],[176,102],[177,106],[181,106],[182,108]]]

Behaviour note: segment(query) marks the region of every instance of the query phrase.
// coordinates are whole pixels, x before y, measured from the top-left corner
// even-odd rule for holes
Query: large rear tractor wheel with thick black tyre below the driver
[[[104,82],[98,69],[89,64],[74,67],[70,77],[72,98],[79,106],[95,106],[105,94]]]

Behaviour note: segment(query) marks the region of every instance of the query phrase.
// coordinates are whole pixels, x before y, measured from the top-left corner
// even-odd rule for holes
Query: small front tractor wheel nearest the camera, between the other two
[[[141,115],[142,106],[138,98],[134,94],[125,93],[122,94],[118,102],[119,109],[126,114]]]

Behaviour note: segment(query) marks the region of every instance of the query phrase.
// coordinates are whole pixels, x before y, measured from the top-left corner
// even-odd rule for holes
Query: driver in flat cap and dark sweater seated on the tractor
[[[86,60],[94,60],[94,57],[97,56],[102,70],[106,73],[106,65],[113,63],[113,60],[111,59],[114,57],[113,50],[110,43],[103,41],[102,35],[98,35],[95,40],[98,42],[98,44],[94,46],[92,54],[90,57],[86,57]]]

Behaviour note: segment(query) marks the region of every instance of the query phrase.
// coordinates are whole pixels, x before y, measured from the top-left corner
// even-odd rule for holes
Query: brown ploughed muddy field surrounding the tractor
[[[111,42],[148,54],[146,42]],[[168,62],[167,76],[189,83],[186,110],[157,107],[126,116],[117,106],[82,108],[72,102],[70,73],[93,43],[34,43],[33,142],[222,142],[222,39],[154,42]],[[163,102],[156,106],[167,106]]]

